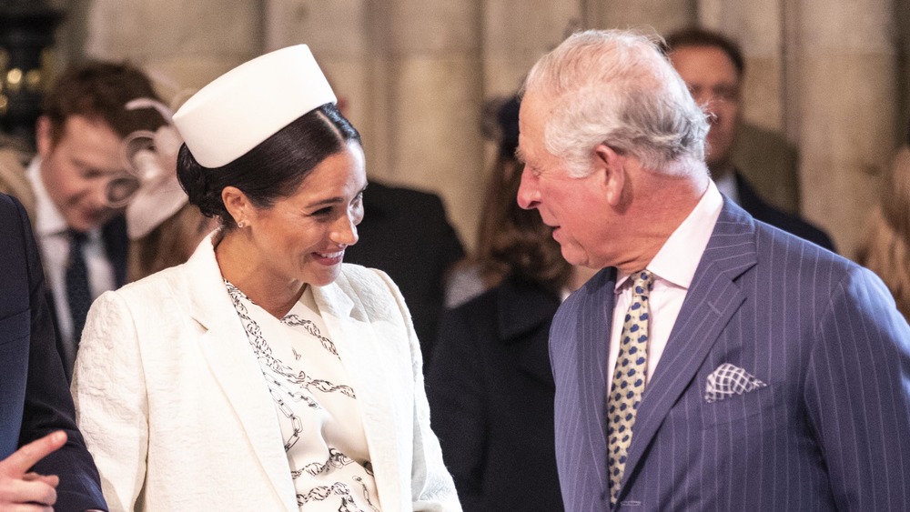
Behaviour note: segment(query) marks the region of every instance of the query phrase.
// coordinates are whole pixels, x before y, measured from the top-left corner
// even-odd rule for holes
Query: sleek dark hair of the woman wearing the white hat
[[[303,179],[328,156],[344,150],[349,141],[361,144],[360,134],[327,103],[278,130],[225,166],[200,166],[187,145],[177,156],[177,177],[189,202],[204,216],[217,216],[227,229],[235,225],[221,200],[226,186],[236,186],[253,205],[268,207],[294,194]]]

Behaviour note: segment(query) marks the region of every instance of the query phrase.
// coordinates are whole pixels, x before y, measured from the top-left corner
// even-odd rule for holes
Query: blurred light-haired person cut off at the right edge
[[[881,200],[866,223],[856,261],[875,272],[910,320],[910,130],[885,171]]]

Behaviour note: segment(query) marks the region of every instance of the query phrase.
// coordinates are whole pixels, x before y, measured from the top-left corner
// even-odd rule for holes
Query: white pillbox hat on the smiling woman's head
[[[217,77],[177,110],[174,125],[201,166],[220,167],[336,101],[308,46],[288,46]]]

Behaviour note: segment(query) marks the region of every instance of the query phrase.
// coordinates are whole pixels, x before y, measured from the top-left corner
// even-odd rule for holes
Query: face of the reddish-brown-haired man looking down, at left
[[[126,173],[119,154],[120,140],[104,122],[73,115],[66,119],[55,144],[49,120],[39,120],[41,178],[70,228],[88,231],[122,211],[106,206],[104,199],[108,182]]]

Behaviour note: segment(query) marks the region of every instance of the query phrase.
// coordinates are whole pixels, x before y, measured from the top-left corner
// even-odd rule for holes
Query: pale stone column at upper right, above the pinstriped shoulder
[[[785,0],[787,132],[801,153],[804,215],[853,256],[895,150],[892,2]]]

